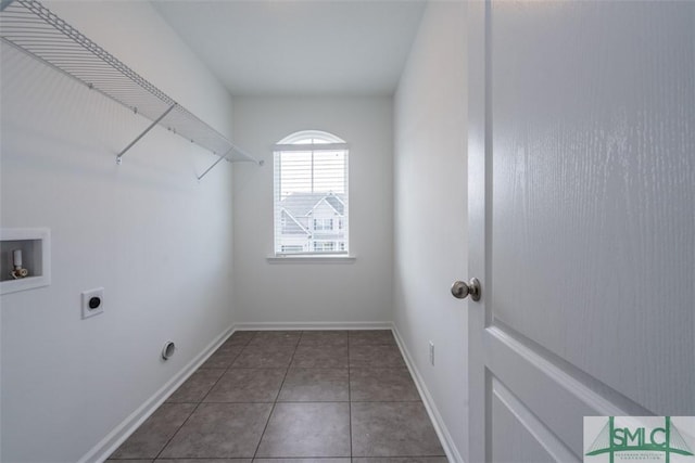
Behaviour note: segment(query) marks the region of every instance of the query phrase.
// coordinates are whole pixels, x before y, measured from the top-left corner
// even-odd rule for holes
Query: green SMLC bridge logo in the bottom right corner
[[[616,453],[620,452],[632,452],[635,460],[641,459],[640,452],[660,452],[665,454],[667,463],[670,462],[671,454],[693,456],[693,451],[679,429],[671,423],[671,417],[664,419],[664,427],[620,427],[616,426],[615,416],[608,416],[608,422],[589,447],[585,455],[607,453],[610,463],[614,463]]]

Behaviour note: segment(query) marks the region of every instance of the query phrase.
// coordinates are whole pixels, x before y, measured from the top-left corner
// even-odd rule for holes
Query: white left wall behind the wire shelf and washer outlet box
[[[147,2],[47,3],[218,130],[231,99]],[[2,295],[3,462],[75,462],[231,325],[231,168],[2,47],[3,228],[48,227],[52,284]],[[80,320],[80,292],[105,312]],[[168,362],[165,340],[177,343]]]

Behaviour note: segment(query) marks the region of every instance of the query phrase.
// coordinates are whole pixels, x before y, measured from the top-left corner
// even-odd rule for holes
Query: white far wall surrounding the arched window
[[[392,320],[393,131],[391,98],[238,98],[236,141],[266,162],[235,170],[235,321]],[[273,145],[299,130],[350,144],[353,263],[269,263]]]

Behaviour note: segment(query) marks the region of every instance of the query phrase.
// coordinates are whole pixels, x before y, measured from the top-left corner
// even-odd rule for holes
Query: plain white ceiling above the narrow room
[[[421,0],[152,4],[232,95],[391,95]]]

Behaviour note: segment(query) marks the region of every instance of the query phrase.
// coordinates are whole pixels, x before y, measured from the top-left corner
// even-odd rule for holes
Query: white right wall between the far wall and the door
[[[394,321],[460,454],[465,304],[448,288],[467,276],[465,14],[463,2],[428,5],[396,92],[394,124]]]

